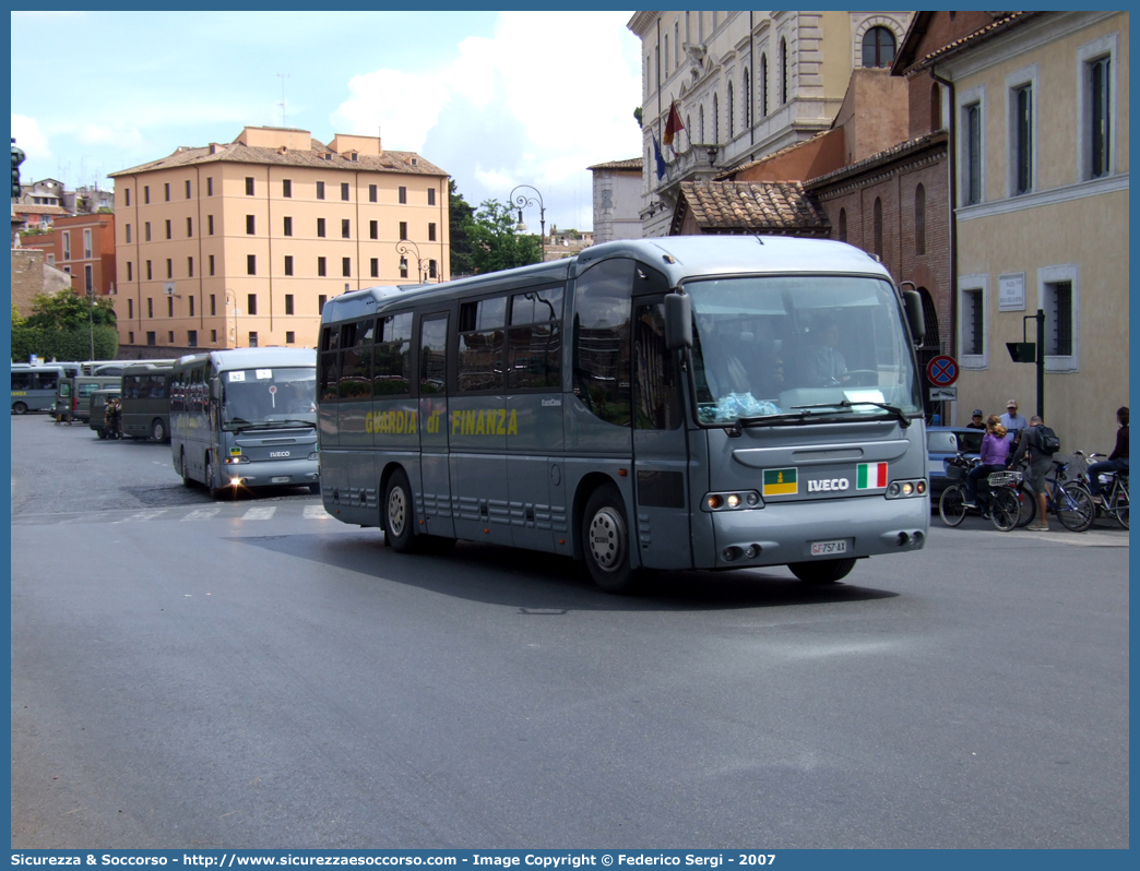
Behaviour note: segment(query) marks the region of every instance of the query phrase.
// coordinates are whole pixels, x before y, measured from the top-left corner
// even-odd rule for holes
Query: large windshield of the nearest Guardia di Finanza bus
[[[921,414],[902,307],[888,282],[754,276],[693,280],[685,292],[701,423]]]

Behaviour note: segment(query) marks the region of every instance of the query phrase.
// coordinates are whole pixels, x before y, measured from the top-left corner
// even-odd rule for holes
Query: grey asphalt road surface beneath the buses
[[[14,848],[1129,846],[1123,530],[621,599],[11,440]]]

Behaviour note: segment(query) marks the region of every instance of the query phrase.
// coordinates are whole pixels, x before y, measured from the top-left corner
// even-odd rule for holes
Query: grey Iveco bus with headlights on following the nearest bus
[[[316,352],[241,348],[188,355],[170,384],[174,471],[211,496],[302,485],[320,490]]]

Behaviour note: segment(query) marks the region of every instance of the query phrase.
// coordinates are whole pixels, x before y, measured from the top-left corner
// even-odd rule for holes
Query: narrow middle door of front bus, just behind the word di
[[[451,483],[448,473],[447,312],[420,319],[420,487],[415,471],[408,478],[416,493],[421,531],[455,538],[451,520]]]

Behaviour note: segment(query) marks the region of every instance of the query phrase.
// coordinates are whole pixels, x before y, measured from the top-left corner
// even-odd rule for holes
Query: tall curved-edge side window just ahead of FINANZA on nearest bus
[[[578,277],[573,316],[573,392],[594,415],[630,424],[629,294],[634,261],[602,260]]]

